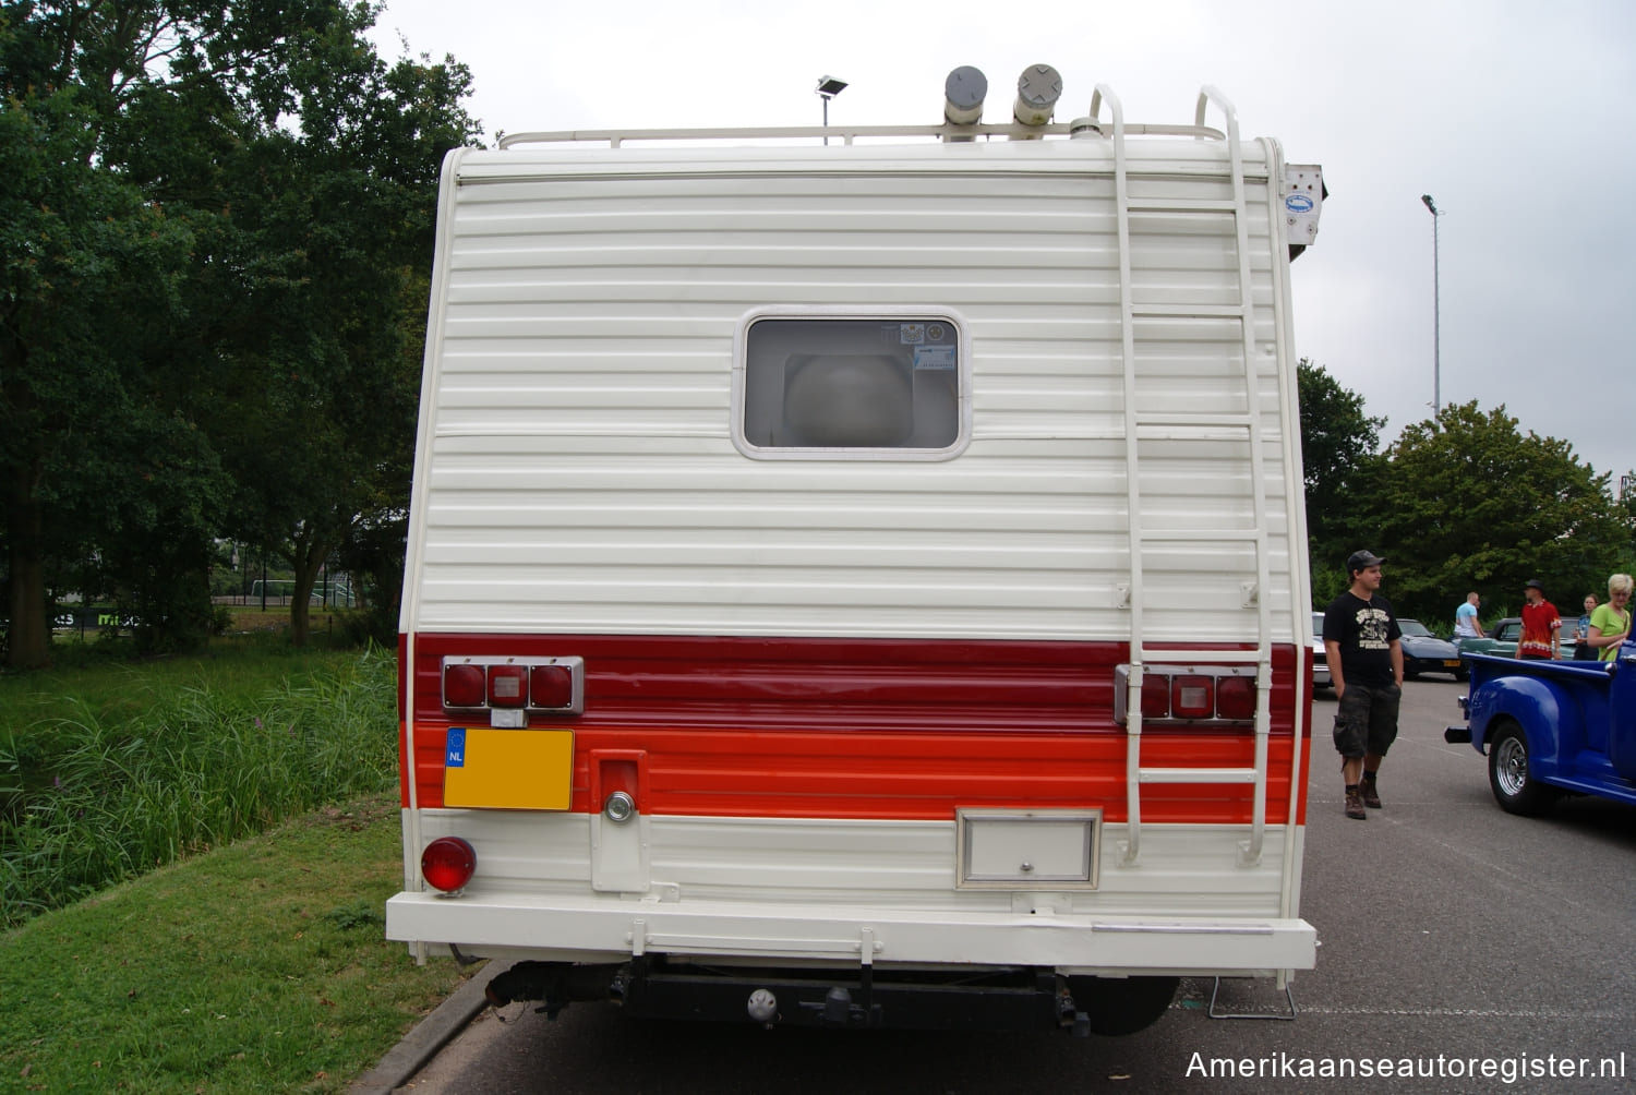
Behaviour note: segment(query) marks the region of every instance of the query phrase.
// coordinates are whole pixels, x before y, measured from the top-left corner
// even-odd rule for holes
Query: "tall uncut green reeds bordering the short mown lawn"
[[[337,666],[258,696],[169,686],[136,712],[70,699],[0,732],[0,923],[391,787],[394,658]]]

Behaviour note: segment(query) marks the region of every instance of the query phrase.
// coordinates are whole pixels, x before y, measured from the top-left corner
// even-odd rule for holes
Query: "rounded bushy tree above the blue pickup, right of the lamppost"
[[[1572,606],[1607,584],[1631,542],[1608,475],[1567,442],[1523,434],[1503,406],[1484,414],[1474,401],[1402,432],[1364,517],[1391,560],[1394,607],[1427,619],[1449,615],[1471,589],[1518,604],[1528,578]]]

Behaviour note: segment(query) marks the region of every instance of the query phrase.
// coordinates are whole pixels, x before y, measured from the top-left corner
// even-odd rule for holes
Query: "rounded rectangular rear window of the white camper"
[[[761,318],[739,408],[753,453],[949,453],[960,440],[960,331],[949,318]]]

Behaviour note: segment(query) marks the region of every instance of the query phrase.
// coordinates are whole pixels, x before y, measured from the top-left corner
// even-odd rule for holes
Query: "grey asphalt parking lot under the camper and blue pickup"
[[[1301,912],[1320,944],[1292,984],[1294,1021],[1211,1018],[1212,982],[1183,982],[1163,1020],[1122,1039],[762,1031],[582,1005],[550,1023],[510,1005],[402,1090],[1636,1090],[1636,809],[1503,813],[1484,758],[1443,741],[1464,686],[1404,692],[1386,805],[1366,822],[1342,815],[1335,702],[1315,701]],[[1284,1003],[1261,982],[1222,994],[1227,1012]]]

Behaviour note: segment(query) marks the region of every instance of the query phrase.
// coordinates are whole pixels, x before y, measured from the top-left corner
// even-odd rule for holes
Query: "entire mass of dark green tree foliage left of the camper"
[[[463,65],[376,56],[380,7],[0,5],[11,665],[44,661],[61,575],[182,645],[211,535],[285,543],[311,588],[360,514],[402,507],[412,288],[476,124]]]

